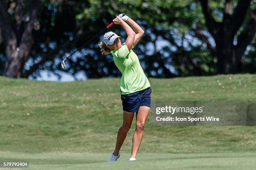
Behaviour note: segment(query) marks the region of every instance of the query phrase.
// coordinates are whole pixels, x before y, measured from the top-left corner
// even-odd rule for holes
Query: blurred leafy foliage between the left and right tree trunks
[[[238,0],[232,1],[234,7],[237,2]],[[250,10],[255,9],[254,2],[255,0],[252,1]],[[215,46],[212,36],[205,27],[205,17],[198,0],[43,0],[42,4],[38,14],[41,29],[33,33],[33,49],[23,73],[30,70],[31,65],[36,64],[44,55],[56,48],[59,50],[33,71],[31,77],[39,76],[40,70],[49,70],[59,75],[61,60],[105,28],[119,13],[126,13],[145,30],[144,36],[134,50],[141,63],[144,63],[142,67],[148,76],[176,77],[216,73],[215,52],[212,52],[204,41],[198,39],[194,32],[196,28],[204,30],[210,43]],[[224,0],[211,0],[210,7],[215,20],[221,22]],[[236,37],[246,27],[247,22],[248,15]],[[117,32],[121,35],[121,40],[125,41],[126,35],[120,25],[113,25],[110,30]],[[74,41],[67,47],[58,48],[81,34],[85,34],[82,39]],[[120,76],[112,57],[100,54],[97,47],[99,42],[100,37],[67,61],[66,72],[74,76],[84,72],[89,78]],[[251,46],[252,50],[255,49],[254,42]],[[3,43],[0,45],[0,53],[3,54],[0,63],[4,63]],[[246,52],[244,57],[247,55]],[[250,68],[250,72],[255,72],[254,68]],[[3,74],[3,64],[0,64],[0,70],[2,70],[0,74]],[[244,72],[247,70],[245,69]]]

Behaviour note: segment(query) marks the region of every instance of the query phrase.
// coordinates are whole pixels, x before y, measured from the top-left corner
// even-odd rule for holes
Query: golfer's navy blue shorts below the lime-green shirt
[[[130,94],[122,95],[121,100],[123,104],[123,110],[127,112],[138,112],[140,106],[151,105],[151,87],[148,87],[144,90],[133,92]]]

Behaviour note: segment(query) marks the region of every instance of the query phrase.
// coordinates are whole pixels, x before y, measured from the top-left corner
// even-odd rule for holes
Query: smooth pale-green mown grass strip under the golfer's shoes
[[[29,160],[29,168],[25,168],[29,170],[255,170],[256,167],[256,153],[145,153],[133,162],[128,161],[130,154],[122,153],[115,163],[107,163],[109,154],[105,153],[0,154],[0,160]]]

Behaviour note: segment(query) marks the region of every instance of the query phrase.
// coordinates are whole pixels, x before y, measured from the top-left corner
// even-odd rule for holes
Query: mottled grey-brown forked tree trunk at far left
[[[14,23],[11,23],[11,16],[8,10],[14,2],[4,3],[0,1],[0,27],[2,30],[3,41],[5,43],[5,53],[7,61],[5,65],[5,75],[8,77],[20,77],[21,71],[26,62],[26,58],[31,50],[32,31],[38,29],[37,14],[39,1],[30,0],[28,15],[23,18],[25,12],[25,0],[18,0],[15,8]],[[9,9],[7,10],[7,6]],[[24,26],[23,26],[24,25]]]

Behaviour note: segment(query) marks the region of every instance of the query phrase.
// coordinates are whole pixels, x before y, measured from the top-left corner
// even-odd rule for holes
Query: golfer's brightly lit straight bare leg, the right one
[[[133,146],[131,158],[136,158],[138,153],[138,149],[141,145],[141,141],[143,138],[143,130],[146,120],[148,118],[148,112],[150,107],[148,106],[140,106],[138,113],[136,113],[136,129],[133,134]]]

